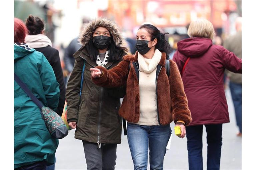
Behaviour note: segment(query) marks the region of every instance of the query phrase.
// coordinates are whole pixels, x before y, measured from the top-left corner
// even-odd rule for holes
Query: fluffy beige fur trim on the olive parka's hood
[[[123,43],[123,37],[121,35],[121,32],[117,26],[116,23],[113,21],[110,21],[106,18],[97,18],[89,22],[85,28],[83,28],[83,31],[81,31],[80,36],[79,36],[79,42],[82,44],[84,47],[89,40],[92,37],[93,32],[97,27],[105,27],[108,29],[110,34],[113,37],[113,40],[116,44],[116,46],[120,47],[121,44]]]

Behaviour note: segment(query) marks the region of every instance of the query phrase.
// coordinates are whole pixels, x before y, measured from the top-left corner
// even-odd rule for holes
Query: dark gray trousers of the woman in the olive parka
[[[117,144],[101,143],[101,148],[98,149],[97,143],[83,140],[83,145],[88,170],[115,169]]]

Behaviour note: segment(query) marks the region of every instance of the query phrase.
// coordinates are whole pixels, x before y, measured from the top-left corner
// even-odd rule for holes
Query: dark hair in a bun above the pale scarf
[[[41,34],[44,29],[44,21],[39,17],[29,15],[26,20],[26,27],[28,28],[29,35]]]

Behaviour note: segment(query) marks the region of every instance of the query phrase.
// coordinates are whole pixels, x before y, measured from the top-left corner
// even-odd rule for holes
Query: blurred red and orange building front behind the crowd
[[[100,15],[114,18],[123,29],[132,29],[145,22],[158,27],[186,26],[197,18],[206,18],[214,28],[224,28],[230,32],[229,16],[241,15],[241,1],[109,1]]]

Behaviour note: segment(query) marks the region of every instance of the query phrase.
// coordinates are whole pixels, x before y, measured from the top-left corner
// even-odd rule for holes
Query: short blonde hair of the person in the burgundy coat
[[[215,35],[213,25],[206,19],[197,19],[192,21],[188,28],[189,37],[199,37],[212,39]]]

